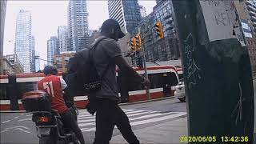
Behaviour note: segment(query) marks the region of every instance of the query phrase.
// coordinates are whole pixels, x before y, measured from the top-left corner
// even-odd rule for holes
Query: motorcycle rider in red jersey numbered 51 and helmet
[[[85,141],[78,122],[75,121],[73,114],[67,108],[62,97],[62,91],[66,91],[66,82],[57,76],[58,70],[54,66],[46,66],[43,72],[46,77],[38,82],[38,90],[45,91],[50,95],[51,109],[58,110],[63,124],[73,130],[79,142],[84,144]]]

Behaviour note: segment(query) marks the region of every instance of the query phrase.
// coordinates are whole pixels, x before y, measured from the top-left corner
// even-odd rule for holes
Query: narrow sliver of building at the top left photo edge
[[[7,1],[3,0],[1,1],[1,15],[0,15],[0,58],[2,58],[2,52],[3,52],[3,35],[4,35],[4,29],[5,29],[5,19],[6,19],[6,5]]]

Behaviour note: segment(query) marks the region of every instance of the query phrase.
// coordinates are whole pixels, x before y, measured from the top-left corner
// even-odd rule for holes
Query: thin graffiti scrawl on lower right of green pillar
[[[231,114],[231,118],[232,117],[236,117],[235,118],[235,125],[238,125],[238,118],[240,121],[242,121],[242,102],[244,102],[246,99],[242,98],[242,87],[241,84],[239,83],[239,91],[240,91],[240,97],[238,100],[238,104],[234,107],[233,113]],[[237,115],[235,115],[237,114]]]

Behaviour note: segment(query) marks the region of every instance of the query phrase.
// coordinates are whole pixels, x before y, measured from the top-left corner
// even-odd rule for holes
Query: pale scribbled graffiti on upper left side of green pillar
[[[191,89],[192,86],[195,86],[198,84],[199,80],[201,79],[200,75],[200,68],[196,64],[193,58],[193,53],[195,50],[195,42],[193,35],[190,33],[186,40],[184,40],[185,45],[185,59],[186,59],[186,78],[189,82],[189,88]]]

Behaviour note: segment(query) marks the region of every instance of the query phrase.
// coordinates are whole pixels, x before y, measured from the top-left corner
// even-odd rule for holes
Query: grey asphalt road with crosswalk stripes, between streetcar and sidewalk
[[[133,130],[186,117],[186,102],[179,102],[174,98],[121,107],[128,115]],[[79,112],[79,127],[86,143],[92,143],[95,132],[95,118],[88,114],[86,110],[79,110]],[[38,143],[34,122],[31,121],[31,114],[1,113],[0,133],[1,143]],[[119,134],[119,130],[115,128],[113,136]]]

